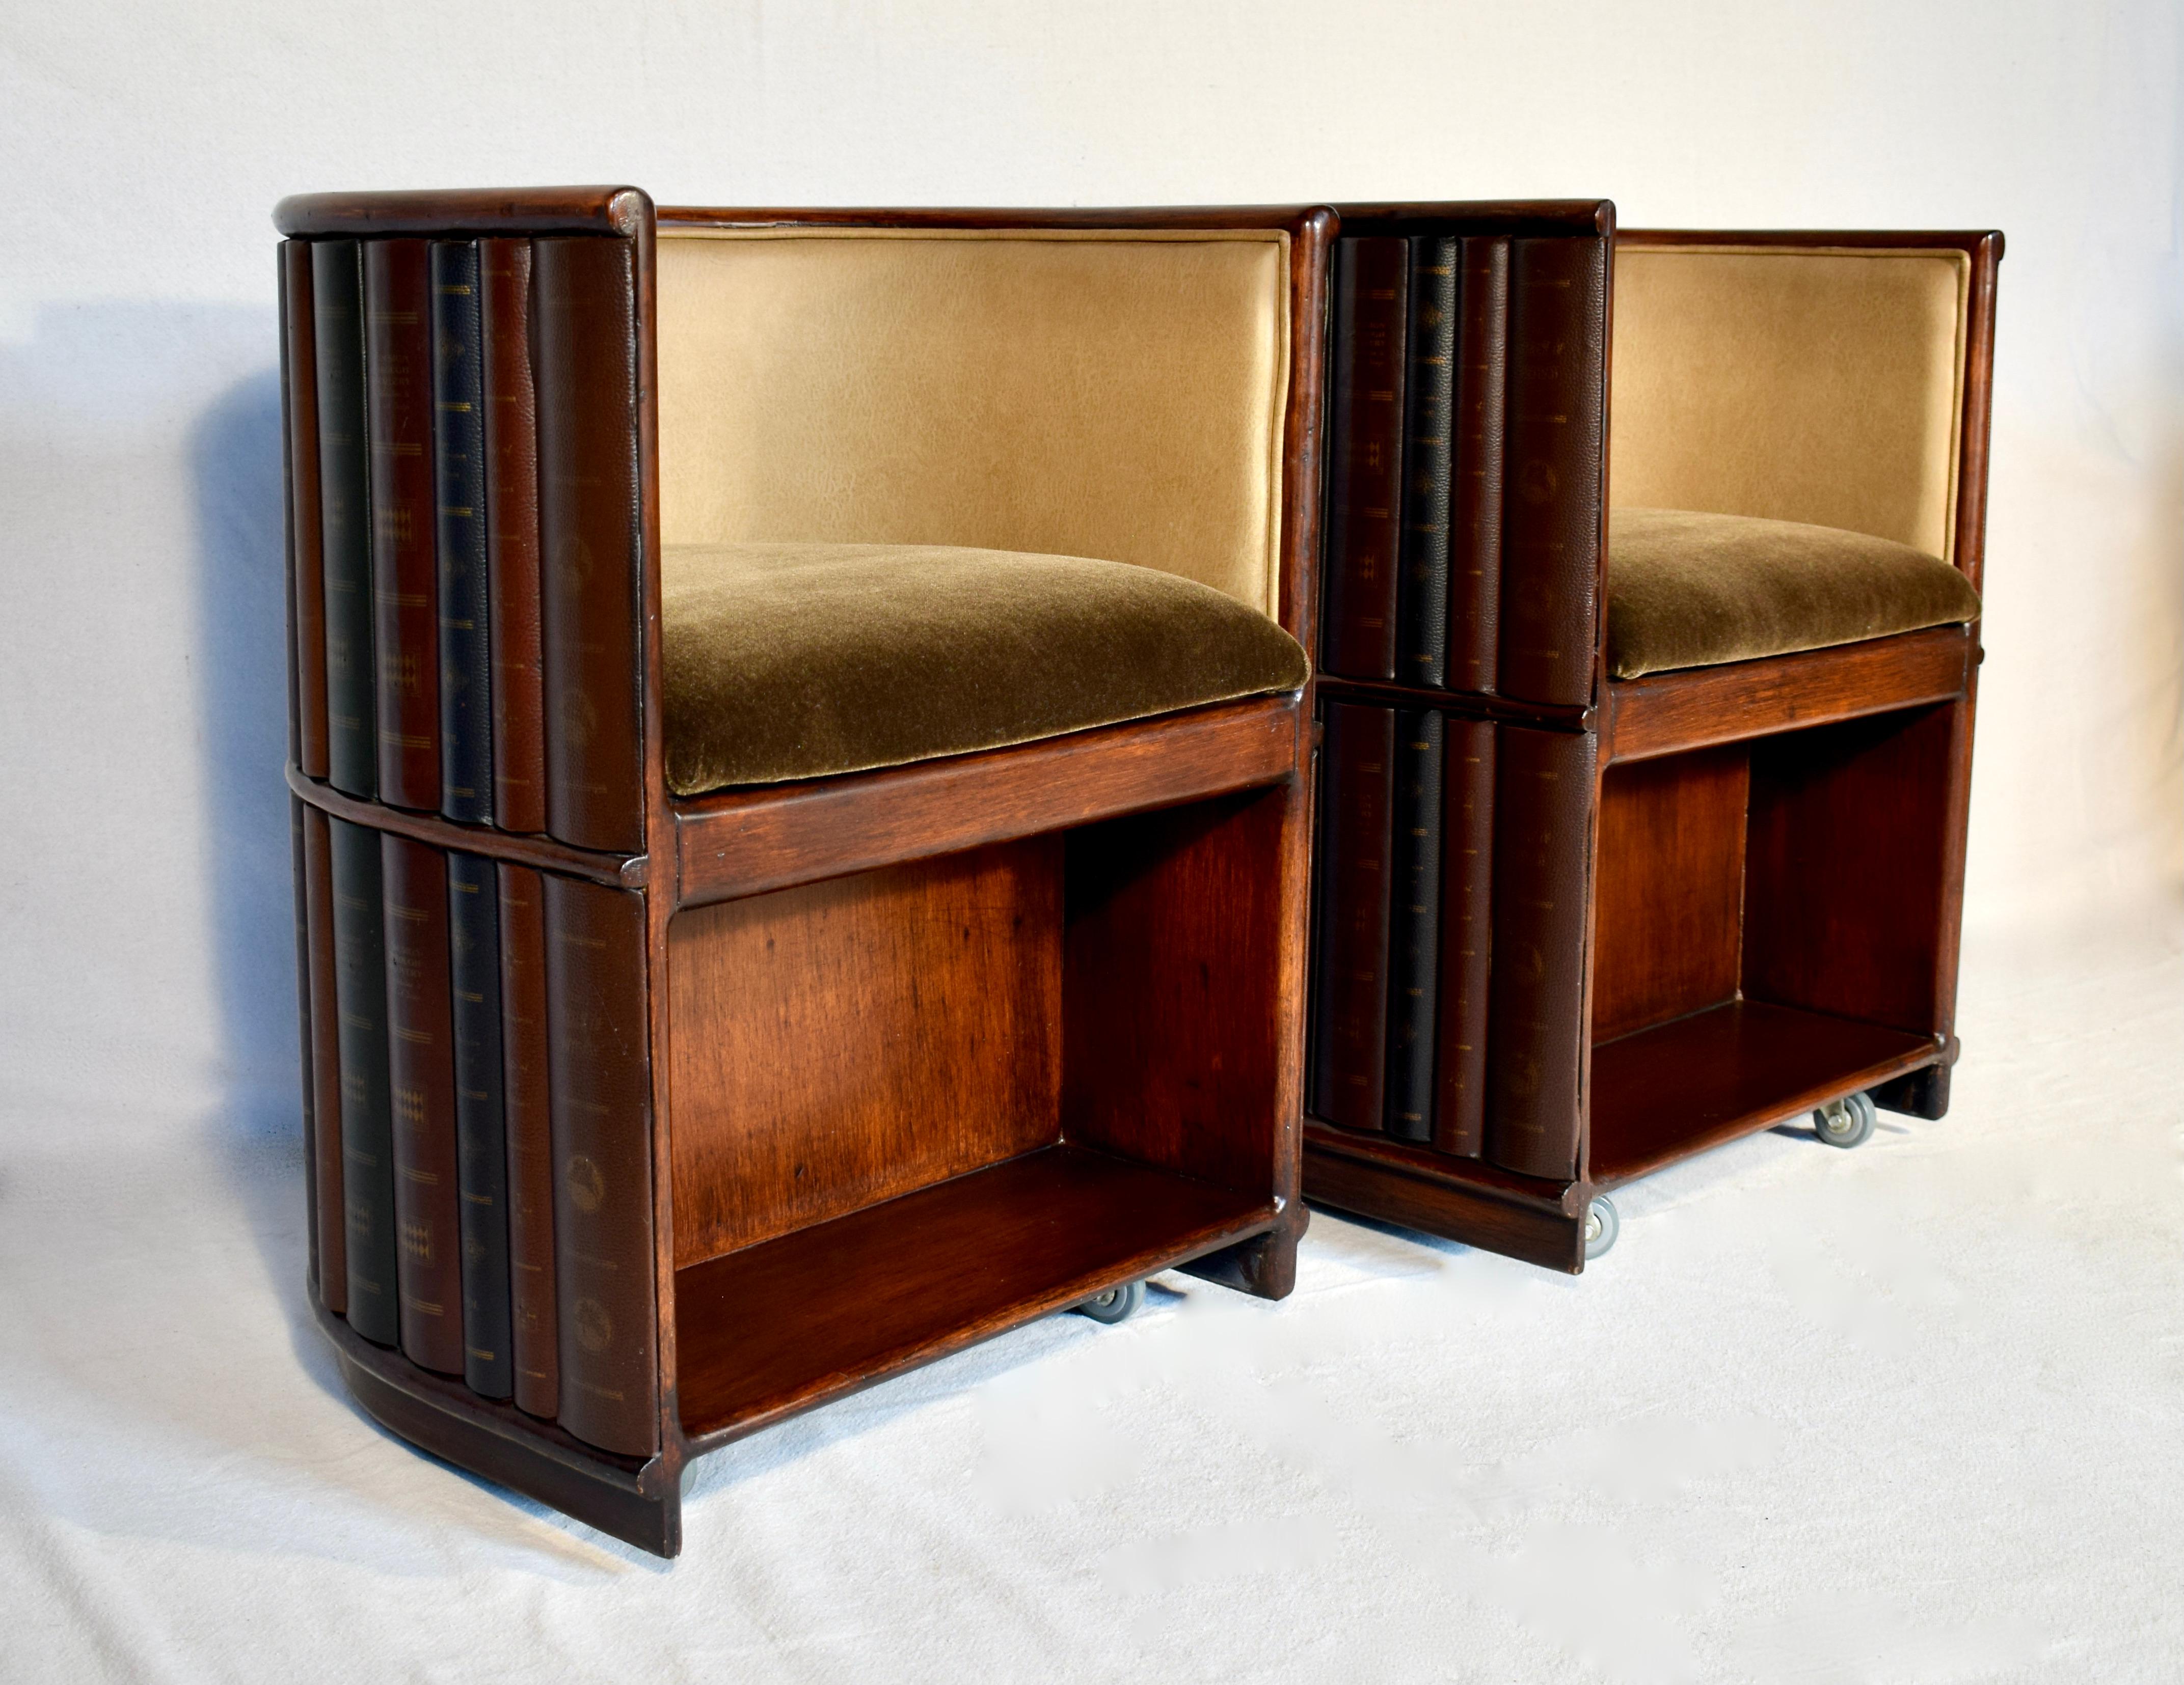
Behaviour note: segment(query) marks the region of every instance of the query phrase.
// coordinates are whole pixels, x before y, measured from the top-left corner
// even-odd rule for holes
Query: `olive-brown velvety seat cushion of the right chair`
[[[1804,522],[1607,511],[1607,677],[1712,668],[1979,618],[1939,557]]]

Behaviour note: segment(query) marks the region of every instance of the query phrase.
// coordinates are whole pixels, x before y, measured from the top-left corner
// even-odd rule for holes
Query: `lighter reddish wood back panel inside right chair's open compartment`
[[[1736,993],[1743,947],[1741,746],[1614,766],[1601,781],[1592,1039]]]

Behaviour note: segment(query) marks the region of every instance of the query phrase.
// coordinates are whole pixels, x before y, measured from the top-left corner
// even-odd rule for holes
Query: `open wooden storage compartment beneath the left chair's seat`
[[[684,908],[692,1449],[1280,1220],[1295,781]]]

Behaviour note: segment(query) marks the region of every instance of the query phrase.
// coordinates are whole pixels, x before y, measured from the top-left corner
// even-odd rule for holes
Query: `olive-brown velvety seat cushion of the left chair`
[[[666,546],[668,788],[863,773],[1297,690],[1308,664],[1210,585],[935,543]]]

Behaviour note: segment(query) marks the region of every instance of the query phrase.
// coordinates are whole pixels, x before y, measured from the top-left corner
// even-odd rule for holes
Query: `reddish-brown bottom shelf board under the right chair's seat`
[[[1933,1037],[1730,1000],[1592,1050],[1592,1185],[1870,1089],[1939,1056]]]

